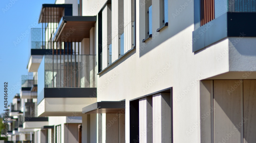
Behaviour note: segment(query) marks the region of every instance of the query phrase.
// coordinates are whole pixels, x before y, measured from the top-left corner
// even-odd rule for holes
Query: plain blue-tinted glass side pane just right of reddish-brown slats
[[[215,7],[215,18],[223,15],[228,11],[228,0],[215,0],[214,7]]]

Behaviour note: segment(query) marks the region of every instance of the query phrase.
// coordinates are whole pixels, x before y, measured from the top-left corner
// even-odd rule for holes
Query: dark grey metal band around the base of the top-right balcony
[[[256,37],[256,12],[227,12],[193,31],[193,49],[198,51],[227,37]]]

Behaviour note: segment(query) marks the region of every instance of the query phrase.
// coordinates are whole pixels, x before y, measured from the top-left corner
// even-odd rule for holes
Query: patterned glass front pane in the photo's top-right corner
[[[229,0],[230,12],[256,12],[255,0]]]

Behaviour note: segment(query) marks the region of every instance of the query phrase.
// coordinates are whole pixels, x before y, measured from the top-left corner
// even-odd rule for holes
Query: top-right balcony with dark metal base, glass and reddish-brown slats
[[[210,3],[209,3],[210,4]],[[215,0],[211,11],[195,1],[193,52],[199,51],[227,37],[256,37],[256,2],[254,0]],[[201,5],[203,6],[203,5]],[[205,7],[210,7],[204,4]],[[206,14],[202,16],[204,13]],[[203,17],[203,18],[202,18]],[[213,20],[210,20],[213,19]],[[241,22],[242,21],[242,22]]]

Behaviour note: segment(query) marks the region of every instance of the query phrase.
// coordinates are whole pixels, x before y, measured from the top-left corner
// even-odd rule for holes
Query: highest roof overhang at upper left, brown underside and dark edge
[[[58,23],[62,16],[72,16],[72,12],[72,4],[43,4],[38,23]]]

